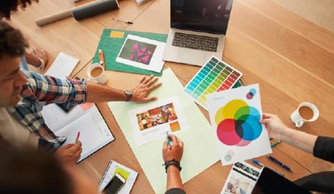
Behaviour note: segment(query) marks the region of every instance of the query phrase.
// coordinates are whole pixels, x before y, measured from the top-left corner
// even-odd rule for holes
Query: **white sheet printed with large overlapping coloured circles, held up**
[[[208,94],[207,108],[223,166],[272,152],[258,84]]]

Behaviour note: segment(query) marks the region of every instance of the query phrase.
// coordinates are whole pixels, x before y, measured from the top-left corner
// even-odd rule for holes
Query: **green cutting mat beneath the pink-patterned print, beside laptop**
[[[122,38],[114,38],[114,37],[110,37],[111,31],[120,31],[120,32],[124,32],[125,34]],[[136,35],[138,37],[154,39],[159,42],[167,42],[166,34],[141,33],[141,32],[135,32],[135,31],[113,30],[113,29],[105,28],[103,30],[99,45],[97,46],[97,49],[95,51],[93,63],[99,62],[99,49],[102,49],[104,53],[104,60],[106,61],[106,70],[161,76],[162,69],[160,73],[157,73],[155,71],[140,69],[138,67],[132,67],[127,64],[116,62],[118,53],[120,53],[120,49],[122,48],[122,45],[124,44],[125,39],[127,39],[127,35]]]

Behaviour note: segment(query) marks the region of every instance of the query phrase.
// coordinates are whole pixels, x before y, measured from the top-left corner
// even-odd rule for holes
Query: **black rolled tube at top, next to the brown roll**
[[[108,12],[111,10],[117,10],[119,8],[117,0],[100,0],[88,5],[80,6],[72,10],[74,19],[81,20],[94,15]]]

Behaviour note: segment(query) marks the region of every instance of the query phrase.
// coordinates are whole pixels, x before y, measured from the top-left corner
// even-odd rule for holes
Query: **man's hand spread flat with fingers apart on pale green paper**
[[[148,95],[154,89],[157,89],[162,85],[162,83],[156,83],[159,78],[150,76],[144,76],[134,89],[132,89],[132,98],[131,100],[136,103],[147,103],[153,100],[157,100],[157,97],[148,97]]]

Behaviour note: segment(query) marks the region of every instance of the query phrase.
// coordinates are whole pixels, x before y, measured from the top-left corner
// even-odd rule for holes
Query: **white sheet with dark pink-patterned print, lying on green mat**
[[[135,47],[134,44],[137,44]],[[164,67],[164,61],[162,60],[162,55],[164,53],[166,43],[159,42],[156,40],[138,37],[134,35],[127,35],[127,39],[125,39],[122,48],[120,49],[120,53],[118,53],[118,57],[116,58],[116,62],[123,63],[125,65],[131,65],[133,67],[138,67],[141,69],[147,69],[150,71],[161,72],[161,69]],[[154,47],[155,48],[152,48]],[[134,49],[136,48],[136,49]],[[138,48],[138,49],[137,49]],[[145,51],[141,50],[146,48]],[[141,51],[143,52],[141,52]],[[138,51],[138,52],[137,52]],[[148,64],[145,64],[145,59],[147,55],[152,53],[152,57],[148,60]],[[136,54],[143,56],[142,58],[136,58]],[[131,56],[133,56],[133,60],[130,60]]]

